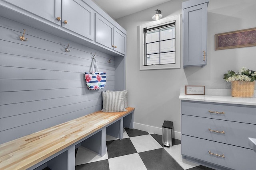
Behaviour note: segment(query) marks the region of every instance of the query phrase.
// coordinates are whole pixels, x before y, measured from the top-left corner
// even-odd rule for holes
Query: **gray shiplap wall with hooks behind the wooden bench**
[[[28,41],[19,39],[23,29]],[[88,90],[84,80],[91,53],[107,72],[101,90]],[[102,90],[115,85],[110,57],[0,17],[0,144],[102,109]]]

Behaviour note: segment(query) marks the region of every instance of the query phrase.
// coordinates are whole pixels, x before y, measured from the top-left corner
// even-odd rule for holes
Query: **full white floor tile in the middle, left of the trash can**
[[[137,152],[162,148],[162,146],[151,135],[130,137],[130,140],[132,141],[132,144]]]

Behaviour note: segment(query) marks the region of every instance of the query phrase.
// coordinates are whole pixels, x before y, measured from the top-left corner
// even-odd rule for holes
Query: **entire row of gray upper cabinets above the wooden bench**
[[[92,0],[0,0],[0,16],[110,55],[126,54],[126,30]]]

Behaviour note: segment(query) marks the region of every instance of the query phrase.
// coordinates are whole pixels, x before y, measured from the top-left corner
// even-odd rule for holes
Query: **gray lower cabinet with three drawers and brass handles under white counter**
[[[216,169],[253,170],[256,107],[182,100],[181,154]]]

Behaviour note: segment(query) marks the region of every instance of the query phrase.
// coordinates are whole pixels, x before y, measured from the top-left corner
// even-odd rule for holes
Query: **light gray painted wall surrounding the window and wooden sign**
[[[256,27],[256,1],[210,0],[207,65],[184,69],[181,53],[180,69],[140,71],[138,26],[152,22],[156,9],[162,11],[163,18],[182,14],[184,1],[171,0],[116,20],[127,30],[126,88],[129,92],[128,103],[136,108],[134,127],[161,134],[164,120],[171,120],[174,121],[173,130],[177,139],[180,138],[181,128],[180,87],[204,85],[206,88],[230,89],[230,83],[222,80],[227,70],[238,70],[242,66],[256,70],[256,47],[214,50],[216,33]]]

